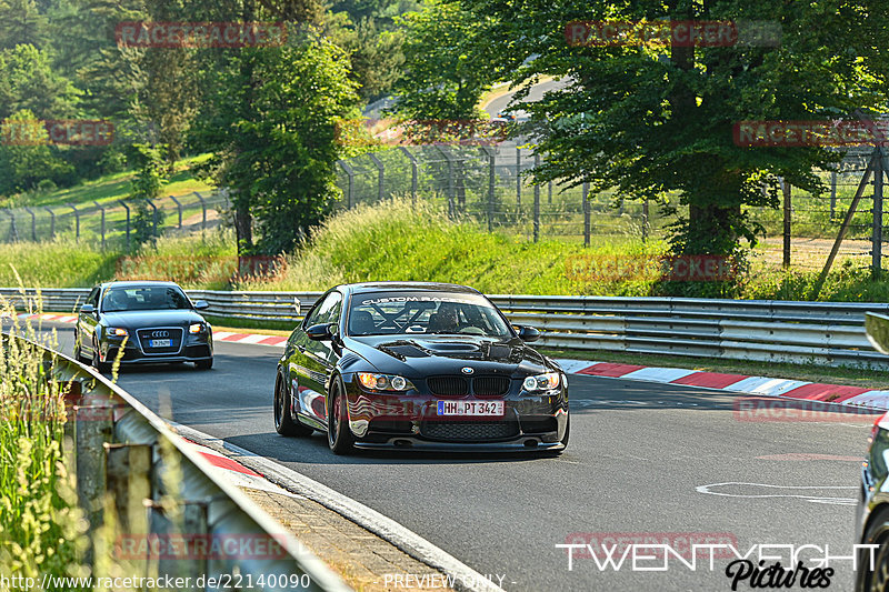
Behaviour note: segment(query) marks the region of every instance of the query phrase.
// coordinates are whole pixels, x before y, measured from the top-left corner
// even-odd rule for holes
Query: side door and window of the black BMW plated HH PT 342
[[[313,341],[306,330],[316,324],[338,323],[342,312],[342,294],[331,291],[324,294],[306,315],[300,329],[293,333],[288,373],[293,409],[307,423],[327,427],[326,395],[328,381],[339,360],[339,349],[331,341]]]

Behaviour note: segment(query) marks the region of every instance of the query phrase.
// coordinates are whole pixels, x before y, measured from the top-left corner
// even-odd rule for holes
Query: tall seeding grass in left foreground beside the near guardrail
[[[89,574],[87,525],[62,454],[64,392],[42,362],[37,347],[0,338],[0,575],[38,581]]]

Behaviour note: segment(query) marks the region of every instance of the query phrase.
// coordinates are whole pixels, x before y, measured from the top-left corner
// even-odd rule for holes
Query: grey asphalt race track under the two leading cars
[[[70,354],[70,325],[58,330]],[[728,534],[742,553],[767,543],[851,553],[860,460],[872,423],[865,418],[739,421],[735,398],[716,391],[573,375],[571,444],[561,456],[340,458],[323,435],[274,433],[278,351],[217,342],[209,372],[132,369],[119,383],[166,418],[359,500],[482,574],[506,575],[508,591],[730,590],[729,560],[717,560],[712,572],[707,561],[697,571],[670,562],[667,572],[632,572],[629,563],[601,571],[592,559],[576,558],[569,571],[567,552],[556,544],[572,533],[599,533],[597,540],[606,533]],[[832,566],[829,589],[850,590],[850,562]]]

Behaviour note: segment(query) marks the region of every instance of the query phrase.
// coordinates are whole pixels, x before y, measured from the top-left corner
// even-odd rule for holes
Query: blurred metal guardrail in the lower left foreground
[[[136,548],[164,535],[180,549],[183,541],[192,541],[206,554],[188,561],[160,556],[153,564],[161,576],[190,576],[189,590],[212,589],[206,583],[209,578],[223,582],[220,578],[232,574],[231,582],[241,581],[242,586],[250,582],[251,589],[259,590],[351,590],[236,486],[217,476],[191,444],[132,395],[92,369],[24,338],[3,334],[0,347],[9,339],[20,340],[38,354],[42,351],[50,380],[68,385],[66,432],[73,442],[69,454],[91,532],[108,523],[107,512],[117,510],[110,523],[123,533],[117,543],[124,555],[127,544],[120,538],[128,533],[136,539]],[[106,502],[108,495],[112,504]],[[171,504],[178,510],[171,511]],[[183,522],[177,523],[173,514]],[[203,546],[194,543],[199,538]],[[201,575],[203,585],[198,580]]]

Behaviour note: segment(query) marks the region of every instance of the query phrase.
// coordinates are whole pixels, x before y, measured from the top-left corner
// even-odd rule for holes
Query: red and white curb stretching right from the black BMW
[[[621,380],[639,380],[662,384],[677,384],[728,391],[731,393],[756,394],[760,397],[785,397],[789,399],[837,403],[856,408],[889,410],[889,391],[825,384],[802,380],[749,377],[746,374],[723,374],[701,372],[681,368],[652,368],[612,362],[590,362],[585,360],[557,360],[569,374],[585,374]]]

